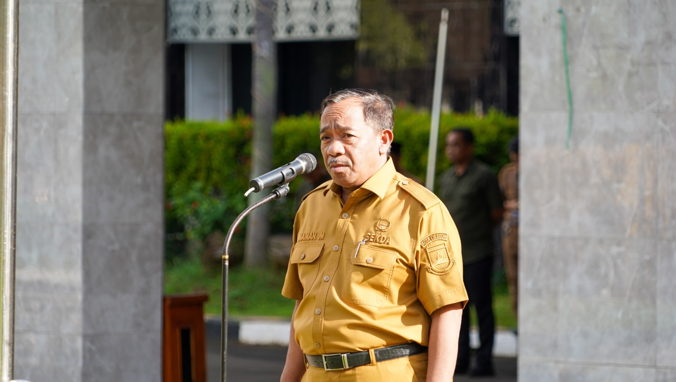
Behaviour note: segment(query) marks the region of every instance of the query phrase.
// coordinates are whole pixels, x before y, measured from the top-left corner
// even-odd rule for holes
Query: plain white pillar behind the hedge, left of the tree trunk
[[[185,45],[185,118],[225,120],[232,114],[230,44]]]

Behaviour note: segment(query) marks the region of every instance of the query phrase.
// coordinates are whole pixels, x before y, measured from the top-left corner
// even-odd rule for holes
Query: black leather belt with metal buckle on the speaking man
[[[383,362],[393,360],[395,358],[404,358],[408,356],[415,356],[416,354],[427,352],[427,346],[419,343],[404,343],[402,345],[394,345],[389,348],[381,348],[373,350],[376,356],[376,362]],[[337,354],[323,354],[321,356],[305,355],[306,360],[310,366],[323,368],[324,370],[343,370],[356,366],[363,366],[371,363],[371,356],[366,352],[356,353],[337,353]]]

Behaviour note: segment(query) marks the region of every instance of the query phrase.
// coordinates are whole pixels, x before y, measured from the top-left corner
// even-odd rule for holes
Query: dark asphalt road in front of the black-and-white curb
[[[277,382],[284,368],[287,348],[252,346],[236,341],[237,325],[228,325],[228,382]],[[207,381],[220,382],[220,326],[207,323]],[[496,377],[457,375],[454,382],[516,382],[516,358],[495,358]]]

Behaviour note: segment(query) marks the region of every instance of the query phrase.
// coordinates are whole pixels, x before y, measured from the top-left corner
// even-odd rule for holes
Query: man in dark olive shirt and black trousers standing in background
[[[481,345],[470,375],[494,375],[493,371],[493,228],[502,221],[502,193],[498,178],[485,164],[473,159],[474,135],[456,128],[446,137],[446,156],[454,164],[441,174],[439,196],[451,214],[462,245],[464,284],[479,318]],[[456,374],[469,366],[469,309],[462,312]]]

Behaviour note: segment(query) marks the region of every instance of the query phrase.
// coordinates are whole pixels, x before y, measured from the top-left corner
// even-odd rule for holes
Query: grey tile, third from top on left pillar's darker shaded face
[[[163,226],[88,224],[84,227],[85,333],[162,329]],[[111,309],[111,307],[116,307]]]

